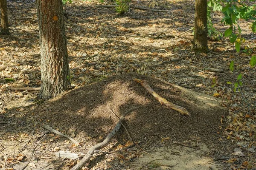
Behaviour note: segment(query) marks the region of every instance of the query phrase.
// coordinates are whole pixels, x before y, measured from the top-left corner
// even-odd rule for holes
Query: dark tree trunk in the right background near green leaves
[[[207,0],[195,0],[195,51],[208,52],[207,31]]]

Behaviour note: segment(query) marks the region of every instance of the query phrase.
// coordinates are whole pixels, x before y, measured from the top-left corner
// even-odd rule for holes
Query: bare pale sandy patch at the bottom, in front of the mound
[[[220,170],[224,168],[206,156],[210,150],[205,144],[200,145],[200,150],[170,145],[169,147],[154,148],[152,152],[154,158],[145,154],[143,157],[139,157],[134,164],[159,167],[161,170],[170,167],[172,170]],[[138,168],[138,170],[140,169],[141,167]]]

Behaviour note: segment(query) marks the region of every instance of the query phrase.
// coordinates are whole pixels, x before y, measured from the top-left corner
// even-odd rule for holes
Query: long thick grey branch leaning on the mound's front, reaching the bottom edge
[[[119,122],[116,124],[116,126],[114,127],[114,129],[111,131],[111,133],[108,134],[108,136],[104,139],[103,142],[98,143],[96,145],[94,145],[84,156],[83,159],[81,159],[81,161],[76,164],[76,166],[74,166],[71,170],[80,170],[84,164],[86,164],[88,161],[90,161],[90,158],[93,156],[93,153],[95,153],[95,150],[99,150],[105,146],[108,145],[108,142],[113,138],[113,136],[115,136],[116,132],[118,132],[118,130],[120,129],[120,127],[122,126],[121,122],[123,122],[125,120],[125,115],[134,111],[137,108],[131,108],[129,109],[127,112],[124,113],[123,116],[120,117]]]

